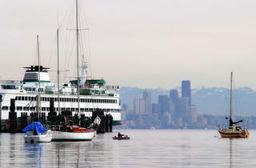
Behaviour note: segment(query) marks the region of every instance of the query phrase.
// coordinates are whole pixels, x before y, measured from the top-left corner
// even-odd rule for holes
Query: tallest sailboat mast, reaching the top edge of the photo
[[[76,0],[76,30],[77,30],[77,71],[78,71],[78,116],[80,116],[80,90],[79,90],[79,30],[78,30],[78,0]]]

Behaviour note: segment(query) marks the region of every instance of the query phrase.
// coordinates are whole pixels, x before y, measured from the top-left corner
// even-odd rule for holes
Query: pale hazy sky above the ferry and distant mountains
[[[22,79],[22,67],[35,62],[36,34],[43,65],[57,69],[55,32],[73,4],[1,1],[0,79]],[[82,8],[94,78],[142,88],[170,89],[182,79],[193,88],[228,87],[233,70],[237,87],[256,89],[256,1],[82,0]]]

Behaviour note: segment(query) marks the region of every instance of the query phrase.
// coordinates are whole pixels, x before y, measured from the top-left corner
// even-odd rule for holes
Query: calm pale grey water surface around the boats
[[[250,138],[219,138],[217,130],[117,130],[92,142],[25,143],[0,134],[0,167],[255,167],[256,130]]]

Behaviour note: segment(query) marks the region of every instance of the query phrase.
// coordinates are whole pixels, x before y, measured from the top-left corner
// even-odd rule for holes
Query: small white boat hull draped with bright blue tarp
[[[52,138],[51,131],[46,130],[41,122],[33,122],[22,131],[26,132],[24,135],[25,142],[50,142]]]

